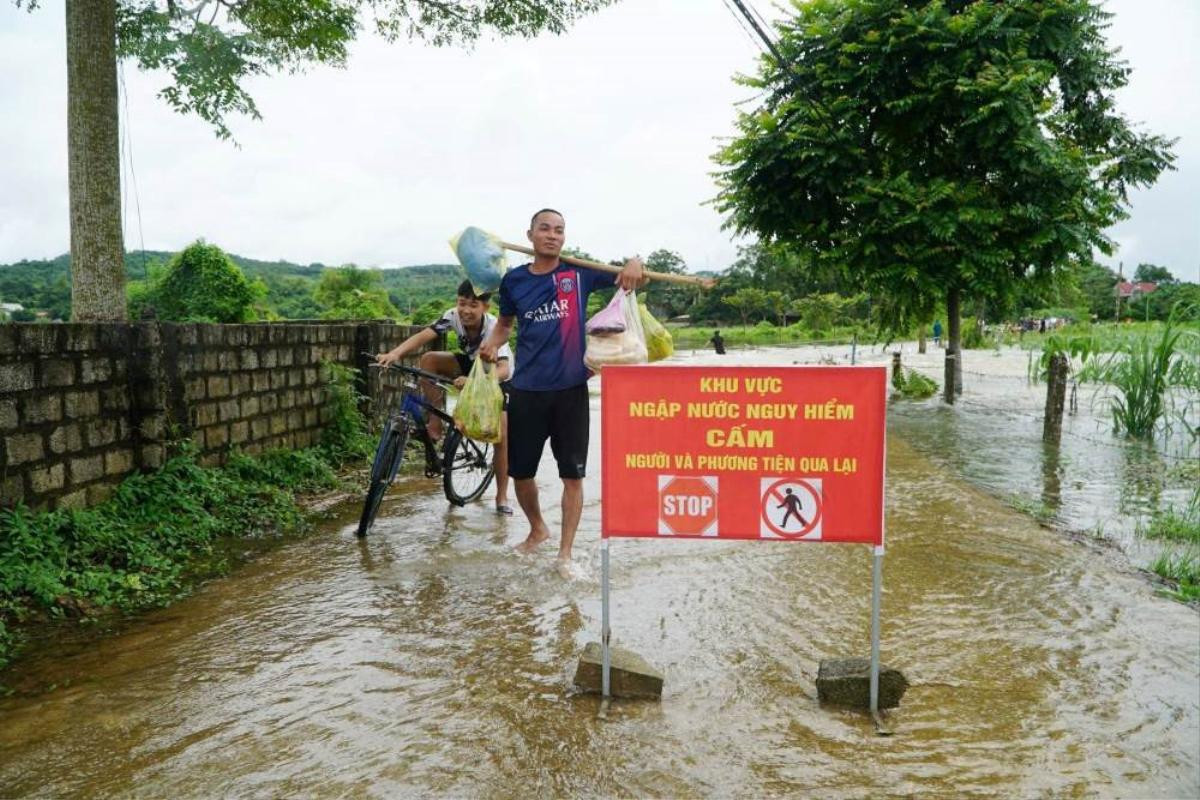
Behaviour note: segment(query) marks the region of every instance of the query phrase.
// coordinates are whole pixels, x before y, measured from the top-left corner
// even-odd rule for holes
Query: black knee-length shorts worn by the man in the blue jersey
[[[588,463],[588,385],[535,392],[509,391],[509,476],[538,474],[546,439],[559,477],[583,477]]]

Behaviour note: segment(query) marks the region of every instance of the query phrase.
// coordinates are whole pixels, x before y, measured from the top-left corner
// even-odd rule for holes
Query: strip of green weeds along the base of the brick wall
[[[338,483],[371,452],[349,371],[329,369],[334,421],[322,444],[205,467],[191,441],[161,469],[131,475],[91,509],[0,511],[0,667],[13,627],[163,606],[229,569],[222,545],[299,531],[299,493]]]

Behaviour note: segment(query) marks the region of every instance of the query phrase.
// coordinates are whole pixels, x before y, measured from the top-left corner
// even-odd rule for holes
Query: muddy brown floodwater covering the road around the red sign
[[[593,403],[576,554],[598,576]],[[866,547],[614,541],[614,642],[666,686],[599,720],[570,691],[598,579],[510,554],[520,513],[412,479],[364,543],[346,509],[31,654],[8,682],[55,688],[0,699],[0,796],[1200,795],[1200,615],[956,477],[916,414],[888,443],[883,660],[913,684],[894,736],[816,702],[821,658],[869,651]],[[556,527],[552,464],[539,480]]]

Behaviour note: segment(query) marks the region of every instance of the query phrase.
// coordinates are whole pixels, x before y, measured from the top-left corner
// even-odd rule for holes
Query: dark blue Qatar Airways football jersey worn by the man
[[[500,315],[517,324],[517,369],[512,386],[524,391],[570,389],[592,374],[583,365],[583,323],[588,295],[612,285],[614,276],[559,263],[534,275],[529,264],[504,273]]]

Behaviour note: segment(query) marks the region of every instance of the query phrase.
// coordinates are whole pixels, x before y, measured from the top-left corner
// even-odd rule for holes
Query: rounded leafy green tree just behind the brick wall
[[[197,241],[170,259],[146,289],[145,302],[158,319],[246,323],[265,294],[266,287],[248,281],[220,247]]]

